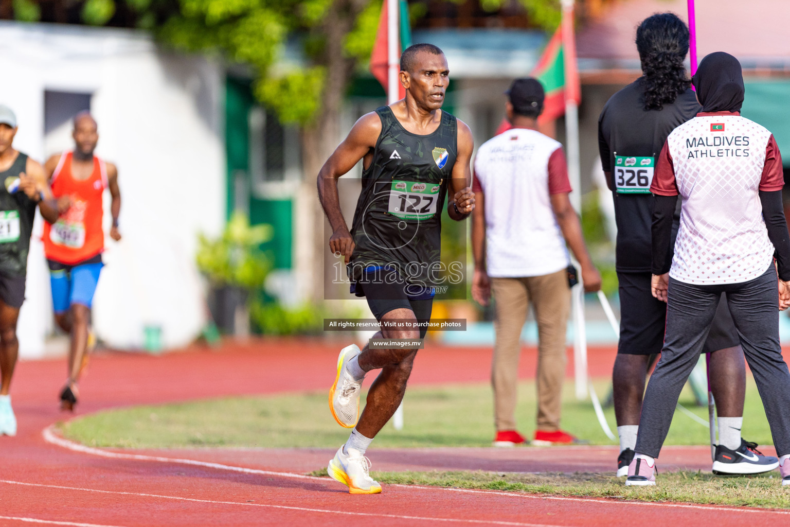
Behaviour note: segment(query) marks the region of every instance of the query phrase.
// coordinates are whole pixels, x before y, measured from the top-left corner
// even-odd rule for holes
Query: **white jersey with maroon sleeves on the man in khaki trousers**
[[[559,142],[513,128],[477,150],[472,190],[483,192],[491,277],[540,277],[568,263],[551,194],[570,192]]]

